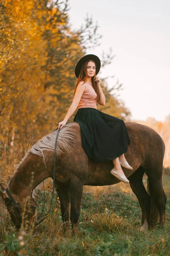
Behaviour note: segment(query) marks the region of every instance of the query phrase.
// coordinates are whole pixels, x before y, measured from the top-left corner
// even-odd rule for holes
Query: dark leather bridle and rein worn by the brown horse
[[[55,188],[55,172],[56,172],[56,169],[55,169],[55,166],[56,166],[56,148],[57,148],[57,139],[58,139],[58,136],[59,136],[59,131],[60,131],[60,128],[58,129],[57,131],[57,136],[56,136],[56,140],[55,140],[55,146],[54,146],[54,168],[53,168],[53,187],[51,189],[53,189],[52,191],[52,196],[51,196],[51,203],[50,203],[50,208],[48,210],[48,213],[42,218],[40,219],[40,221],[36,222],[35,226],[37,226],[38,224],[40,224],[43,220],[45,220],[45,218],[48,216],[50,210],[51,210],[51,205],[52,205],[52,201],[53,201],[53,197],[54,197],[54,189]],[[8,201],[8,203],[5,204],[5,206],[7,206],[8,204],[12,203],[15,207],[15,209],[17,210],[17,213],[19,214],[20,216],[20,219],[21,219],[21,215],[20,215],[20,209],[18,208],[19,205],[21,205],[18,201],[15,201],[14,198],[12,197],[11,193],[9,192],[9,189],[5,189],[6,191],[6,194],[8,195],[8,197],[10,198],[10,201]],[[33,206],[26,206],[27,208],[37,208],[37,207],[33,207]],[[42,209],[42,212],[44,210],[44,207]],[[42,215],[42,212],[40,214],[40,216]],[[40,218],[40,216],[38,217],[38,219]]]

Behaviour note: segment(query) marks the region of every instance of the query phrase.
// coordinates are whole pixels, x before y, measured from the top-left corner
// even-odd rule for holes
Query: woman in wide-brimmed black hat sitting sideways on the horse
[[[78,61],[75,68],[78,80],[74,99],[58,128],[62,129],[78,106],[74,121],[80,125],[82,146],[86,154],[95,163],[112,160],[114,168],[111,174],[129,183],[121,167],[132,169],[124,156],[130,144],[125,122],[98,111],[96,107],[96,102],[105,105],[105,95],[100,79],[96,76],[100,66],[99,58],[93,54],[85,55]]]

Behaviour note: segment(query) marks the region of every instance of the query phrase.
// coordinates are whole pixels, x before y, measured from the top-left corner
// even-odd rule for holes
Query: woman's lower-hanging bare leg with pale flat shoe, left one
[[[111,174],[114,175],[119,180],[129,183],[129,180],[127,180],[127,177],[125,176],[122,167],[119,163],[119,157],[112,160],[114,168],[111,170]]]

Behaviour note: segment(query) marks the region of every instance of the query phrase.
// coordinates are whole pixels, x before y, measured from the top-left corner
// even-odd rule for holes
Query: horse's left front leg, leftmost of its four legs
[[[57,186],[57,194],[59,196],[62,221],[63,221],[63,231],[69,231],[70,229],[70,191],[66,186]]]

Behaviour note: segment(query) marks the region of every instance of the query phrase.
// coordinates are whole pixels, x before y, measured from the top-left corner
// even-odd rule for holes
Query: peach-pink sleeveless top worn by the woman
[[[90,83],[85,82],[85,91],[83,92],[82,97],[79,101],[78,109],[79,108],[96,108],[97,109],[96,101],[97,101],[97,93],[95,92],[94,87]]]

